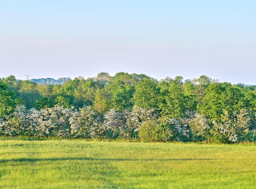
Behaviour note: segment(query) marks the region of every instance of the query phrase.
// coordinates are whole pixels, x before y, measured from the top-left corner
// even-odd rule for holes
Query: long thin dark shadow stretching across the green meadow
[[[95,160],[95,161],[201,161],[213,158],[171,158],[171,159],[128,159],[128,158],[18,158],[3,159],[0,163],[8,162],[39,162],[39,161],[67,161],[67,160]]]

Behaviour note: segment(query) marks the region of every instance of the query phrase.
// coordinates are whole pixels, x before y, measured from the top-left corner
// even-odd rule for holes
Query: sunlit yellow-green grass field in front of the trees
[[[256,145],[1,139],[0,188],[255,189]]]

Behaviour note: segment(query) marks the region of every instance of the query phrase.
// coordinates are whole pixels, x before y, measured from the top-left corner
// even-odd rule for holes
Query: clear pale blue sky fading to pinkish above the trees
[[[0,77],[256,84],[256,0],[0,0]]]

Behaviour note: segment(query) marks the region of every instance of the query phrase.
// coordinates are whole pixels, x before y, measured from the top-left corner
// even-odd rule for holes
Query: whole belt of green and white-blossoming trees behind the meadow
[[[255,142],[256,86],[202,75],[99,73],[64,84],[0,78],[0,136]]]

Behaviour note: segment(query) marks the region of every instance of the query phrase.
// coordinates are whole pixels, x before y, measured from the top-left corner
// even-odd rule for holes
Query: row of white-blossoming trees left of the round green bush
[[[156,110],[137,106],[132,111],[123,112],[112,108],[101,117],[91,106],[77,111],[61,105],[41,110],[27,110],[24,105],[20,105],[12,114],[0,118],[0,135],[130,138],[132,135],[137,137],[139,127],[144,121],[157,118]]]

